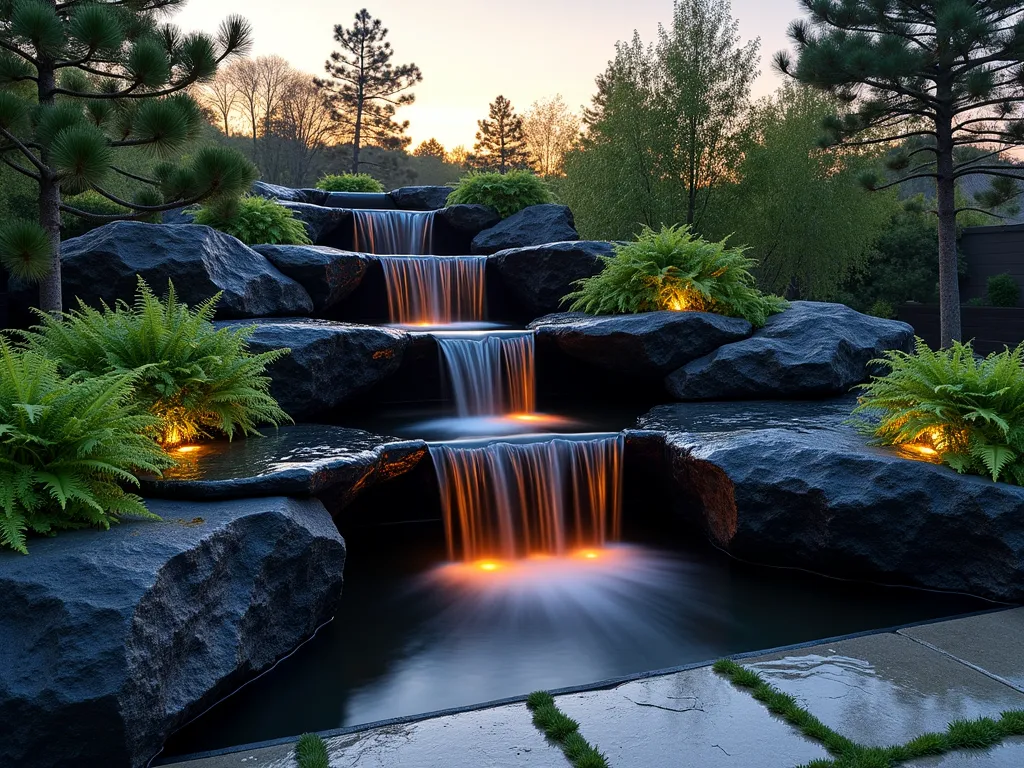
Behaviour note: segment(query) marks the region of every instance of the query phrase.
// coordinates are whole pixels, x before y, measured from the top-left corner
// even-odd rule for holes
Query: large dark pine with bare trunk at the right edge
[[[810,14],[790,28],[798,58],[776,68],[835,94],[848,109],[825,124],[826,142],[914,144],[894,152],[895,179],[865,175],[869,188],[932,179],[939,222],[943,346],[961,338],[956,180],[993,176],[968,207],[995,208],[1017,195],[1016,174],[989,163],[1024,139],[1021,103],[1024,2],[1020,0],[801,0]],[[959,161],[955,150],[985,152]]]

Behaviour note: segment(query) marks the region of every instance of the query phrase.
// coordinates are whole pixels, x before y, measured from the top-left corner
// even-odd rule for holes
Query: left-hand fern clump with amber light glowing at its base
[[[258,434],[288,415],[270,396],[268,364],[289,350],[251,354],[253,329],[216,330],[219,294],[196,309],[179,302],[174,286],[161,300],[139,280],[135,305],[79,308],[60,317],[39,312],[26,334],[30,348],[56,360],[65,375],[138,372],[135,398],[158,417],[156,438],[174,444],[214,433]]]

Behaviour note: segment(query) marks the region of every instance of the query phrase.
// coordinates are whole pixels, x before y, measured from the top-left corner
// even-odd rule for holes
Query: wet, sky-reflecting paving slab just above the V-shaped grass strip
[[[905,743],[951,720],[1024,709],[1024,694],[898,634],[743,662],[822,722],[862,744]]]

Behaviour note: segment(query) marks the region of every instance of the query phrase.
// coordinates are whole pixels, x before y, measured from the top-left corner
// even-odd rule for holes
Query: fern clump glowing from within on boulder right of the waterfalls
[[[688,227],[644,227],[636,243],[602,257],[604,270],[565,297],[573,311],[627,314],[678,309],[745,317],[760,328],[786,302],[757,289],[753,259],[725,241],[709,243]]]

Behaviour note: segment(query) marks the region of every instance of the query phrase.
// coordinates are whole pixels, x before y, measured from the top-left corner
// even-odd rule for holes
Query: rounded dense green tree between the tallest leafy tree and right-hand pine
[[[750,247],[767,290],[835,298],[900,210],[894,193],[872,195],[857,182],[880,151],[818,147],[821,121],[835,108],[829,96],[793,84],[758,101],[735,183],[723,185],[705,216],[710,237],[731,234]]]

